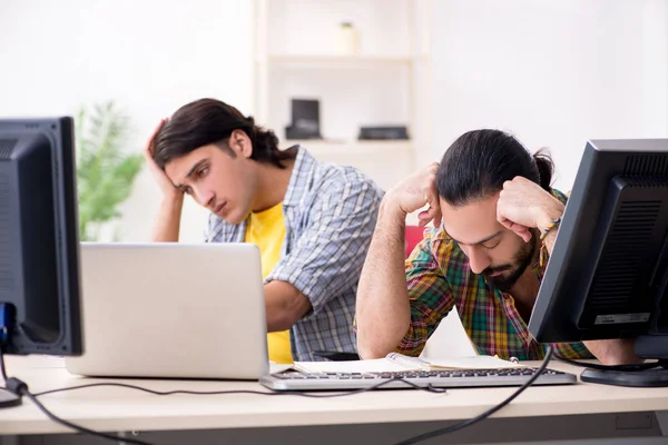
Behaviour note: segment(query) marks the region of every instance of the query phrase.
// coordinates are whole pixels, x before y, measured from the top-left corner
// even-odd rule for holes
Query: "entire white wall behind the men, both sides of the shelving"
[[[569,188],[588,138],[668,136],[665,0],[432,0],[430,17],[433,123],[421,165],[489,126],[549,147],[556,184]],[[0,116],[116,99],[135,122],[128,149],[139,150],[157,119],[199,97],[252,113],[252,20],[245,0],[4,0]],[[143,174],[122,208],[124,239],[149,236],[158,199]],[[206,212],[187,201],[183,239],[198,240]]]

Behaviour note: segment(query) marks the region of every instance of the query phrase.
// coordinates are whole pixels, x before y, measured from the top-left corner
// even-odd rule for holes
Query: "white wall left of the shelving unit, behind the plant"
[[[200,97],[250,113],[248,0],[2,0],[0,116],[73,113],[116,100],[139,151],[156,122]],[[159,194],[146,171],[124,205],[122,240],[147,240]],[[183,240],[200,240],[206,211],[187,199]]]

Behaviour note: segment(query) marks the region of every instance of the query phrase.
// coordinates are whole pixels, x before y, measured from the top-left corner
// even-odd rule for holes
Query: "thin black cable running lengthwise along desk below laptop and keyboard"
[[[414,383],[406,380],[404,378],[401,377],[394,377],[394,378],[389,378],[386,380],[380,382],[375,385],[365,387],[365,388],[360,388],[360,389],[351,389],[351,390],[346,390],[343,393],[336,393],[336,394],[311,394],[311,393],[302,393],[302,392],[272,392],[272,393],[266,393],[263,390],[252,390],[252,389],[232,389],[232,390],[184,390],[184,389],[175,389],[175,390],[154,390],[154,389],[148,389],[141,386],[136,386],[136,385],[128,385],[125,383],[91,383],[88,385],[79,385],[79,386],[70,386],[67,388],[57,388],[57,389],[49,389],[49,390],[43,390],[41,393],[36,393],[33,394],[36,397],[40,397],[40,396],[46,396],[48,394],[55,394],[55,393],[65,393],[68,390],[75,390],[75,389],[84,389],[84,388],[94,388],[94,387],[98,387],[98,386],[115,386],[115,387],[121,387],[121,388],[128,388],[128,389],[136,389],[136,390],[143,390],[145,393],[149,393],[149,394],[154,394],[156,396],[170,396],[170,395],[175,395],[175,394],[190,394],[190,395],[198,395],[198,396],[207,396],[207,395],[230,395],[230,394],[255,394],[255,395],[261,395],[261,396],[299,396],[299,397],[311,397],[311,398],[331,398],[331,397],[343,397],[343,396],[352,396],[354,394],[360,394],[360,393],[366,393],[370,390],[374,390],[374,389],[379,389],[382,388],[383,386],[387,385],[391,382],[403,382],[406,385],[409,385],[412,388],[415,389],[422,389],[425,390],[428,393],[436,393],[436,394],[442,394],[445,393],[446,389],[445,388],[436,388],[432,385],[428,385],[428,386],[419,386],[415,385]]]

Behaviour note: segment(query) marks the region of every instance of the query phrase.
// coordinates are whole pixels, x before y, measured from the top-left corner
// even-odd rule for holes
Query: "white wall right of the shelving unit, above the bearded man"
[[[666,0],[433,0],[433,158],[462,132],[549,147],[572,186],[587,139],[668,136]]]

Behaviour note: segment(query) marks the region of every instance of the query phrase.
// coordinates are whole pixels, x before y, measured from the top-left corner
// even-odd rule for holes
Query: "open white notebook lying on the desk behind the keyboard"
[[[401,370],[474,370],[474,369],[512,369],[524,368],[519,363],[501,359],[495,356],[475,355],[459,358],[410,357],[399,353],[390,353],[384,358],[351,362],[295,362],[293,369],[302,373],[392,373]]]

